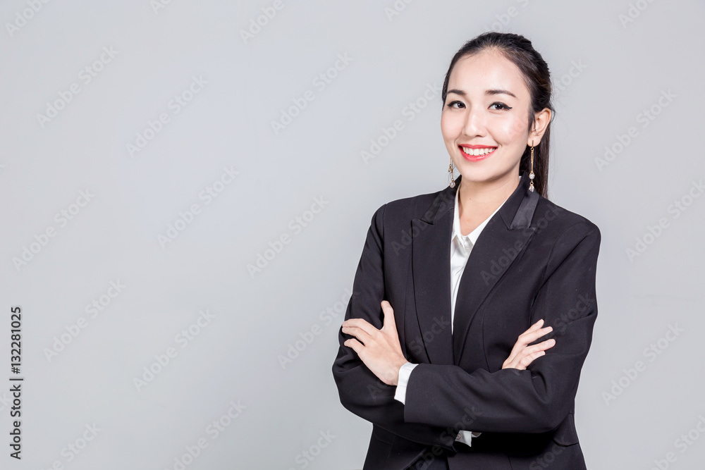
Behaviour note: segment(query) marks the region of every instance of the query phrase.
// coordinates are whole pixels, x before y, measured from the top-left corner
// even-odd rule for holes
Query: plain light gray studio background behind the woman
[[[599,317],[575,412],[587,464],[647,469],[669,452],[669,468],[703,462],[702,1],[417,0],[391,15],[392,0],[283,0],[247,41],[241,31],[273,1],[154,4],[0,5],[3,468],[174,469],[204,439],[186,468],[360,469],[372,425],[341,406],[331,374],[345,290],[374,210],[447,184],[441,98],[424,91],[442,85],[463,42],[491,29],[527,36],[551,67],[549,198],[602,233]],[[347,65],[329,70],[338,54]],[[321,87],[320,73],[335,77]],[[194,77],[207,83],[189,96]],[[40,122],[72,84],[80,93]],[[275,132],[307,90],[314,99]],[[175,113],[181,94],[191,101]],[[131,156],[161,113],[169,122]],[[361,151],[395,120],[403,130],[365,162]],[[606,147],[617,150],[609,159]],[[223,167],[239,173],[206,204],[199,194]],[[81,191],[93,194],[87,204]],[[307,213],[314,198],[323,209]],[[162,247],[192,204],[200,214]],[[63,226],[62,210],[73,211]],[[37,245],[48,228],[54,237]],[[645,249],[630,257],[639,240]],[[113,298],[111,281],[125,286]],[[21,462],[8,457],[15,305]],[[193,327],[206,310],[207,326]],[[182,347],[190,326],[198,334]],[[47,357],[62,335],[68,344]],[[138,389],[169,347],[176,357]],[[228,426],[214,436],[218,420]],[[99,431],[69,461],[87,425]]]

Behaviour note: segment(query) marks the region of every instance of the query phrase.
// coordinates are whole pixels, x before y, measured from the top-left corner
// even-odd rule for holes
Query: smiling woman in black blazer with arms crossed
[[[442,98],[450,185],[375,212],[339,332],[341,402],[373,423],[364,470],[585,469],[573,411],[601,235],[546,199],[548,66],[488,32]]]

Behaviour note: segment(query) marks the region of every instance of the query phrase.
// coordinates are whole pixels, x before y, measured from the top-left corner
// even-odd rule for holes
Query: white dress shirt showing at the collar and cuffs
[[[460,285],[460,276],[462,276],[462,271],[465,270],[465,264],[467,263],[467,258],[470,256],[472,247],[477,241],[480,232],[485,225],[489,222],[489,219],[497,213],[497,211],[507,202],[507,199],[500,204],[500,206],[495,209],[495,211],[490,214],[477,228],[472,230],[472,232],[467,235],[462,235],[460,233],[460,211],[458,209],[458,193],[460,188],[455,191],[455,209],[453,209],[453,235],[450,237],[450,333],[453,333],[453,317],[455,316],[455,298],[458,297],[458,285]],[[399,369],[399,381],[396,388],[396,393],[394,399],[399,402],[404,403],[406,400],[406,387],[409,383],[409,377],[411,376],[411,371],[418,364],[411,364],[407,362]],[[472,438],[477,438],[482,433],[473,433],[471,431],[460,431],[455,440],[471,445]]]

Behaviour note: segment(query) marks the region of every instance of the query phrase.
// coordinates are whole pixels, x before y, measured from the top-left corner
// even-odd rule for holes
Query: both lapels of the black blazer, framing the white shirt
[[[517,259],[536,231],[529,227],[539,194],[529,191],[522,172],[517,189],[489,220],[470,252],[460,278],[453,332],[450,325],[450,236],[453,233],[455,191],[447,187],[424,216],[412,221],[412,276],[417,317],[432,364],[459,364],[474,314],[494,285]]]

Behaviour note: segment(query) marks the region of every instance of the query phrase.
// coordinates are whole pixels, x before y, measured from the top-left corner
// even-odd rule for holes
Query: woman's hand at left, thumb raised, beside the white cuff
[[[401,352],[399,336],[394,320],[394,310],[389,302],[381,302],[384,312],[382,329],[378,330],[364,319],[343,321],[343,333],[355,336],[345,340],[345,346],[353,348],[357,356],[379,380],[387,385],[397,385],[399,368],[407,360]]]

